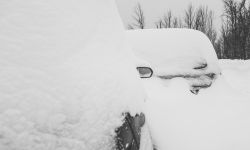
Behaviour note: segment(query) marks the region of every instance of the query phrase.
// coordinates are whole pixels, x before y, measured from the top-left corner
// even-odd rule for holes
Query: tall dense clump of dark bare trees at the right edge
[[[246,0],[224,0],[223,42],[228,58],[247,59],[250,39],[250,7]]]

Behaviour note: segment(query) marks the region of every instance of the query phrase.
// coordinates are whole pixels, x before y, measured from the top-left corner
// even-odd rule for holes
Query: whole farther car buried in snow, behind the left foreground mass
[[[127,36],[137,57],[154,71],[142,81],[155,149],[250,149],[249,96],[225,80],[203,33],[149,29],[128,31]]]

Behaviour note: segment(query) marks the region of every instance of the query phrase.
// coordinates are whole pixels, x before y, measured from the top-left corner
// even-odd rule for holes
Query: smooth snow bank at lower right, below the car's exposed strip
[[[250,101],[220,76],[198,95],[182,78],[145,80],[146,116],[158,150],[250,149]]]

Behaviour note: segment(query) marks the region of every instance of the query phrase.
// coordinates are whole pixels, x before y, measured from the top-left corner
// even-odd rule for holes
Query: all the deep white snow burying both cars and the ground
[[[152,148],[151,136],[159,150],[250,149],[249,90],[239,84],[249,81],[249,65],[223,61],[219,75],[215,52],[199,32],[146,31],[161,39],[146,42],[132,35],[146,60],[135,61],[113,0],[1,1],[0,29],[1,150],[110,150],[121,113],[142,110],[152,133],[143,128],[143,150]],[[204,60],[201,72],[218,75],[212,87],[193,95],[182,78],[145,79],[141,108],[146,97],[134,61],[165,75],[193,74]]]

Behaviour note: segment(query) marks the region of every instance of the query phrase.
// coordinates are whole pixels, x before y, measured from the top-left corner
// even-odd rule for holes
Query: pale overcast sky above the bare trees
[[[215,12],[215,25],[220,29],[221,15],[223,11],[222,0],[116,0],[120,15],[125,26],[132,22],[132,15],[137,2],[140,2],[146,17],[147,28],[152,28],[154,23],[168,10],[172,10],[175,16],[183,17],[187,6],[192,3],[195,7],[207,5]]]

